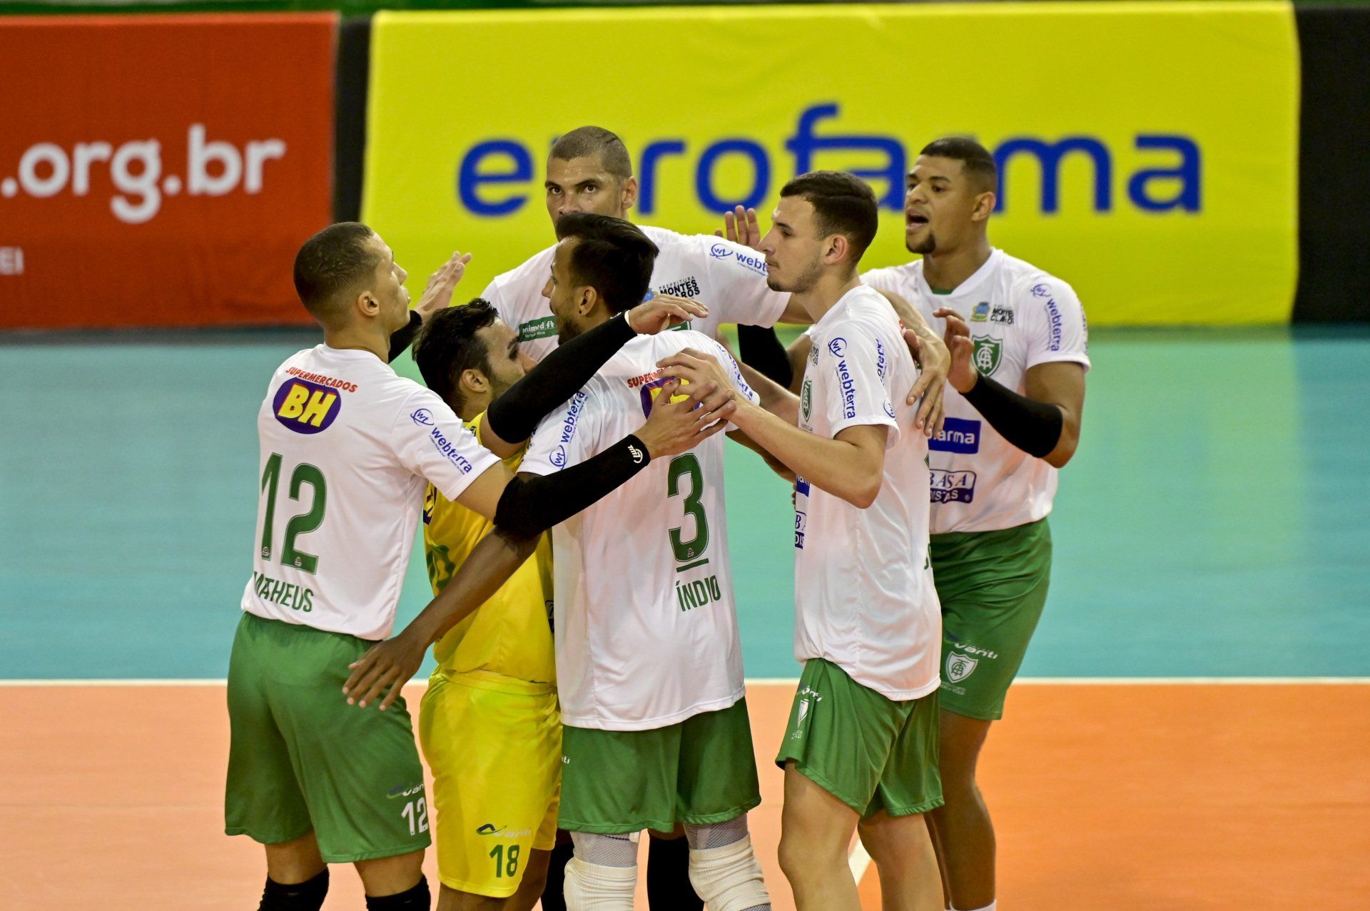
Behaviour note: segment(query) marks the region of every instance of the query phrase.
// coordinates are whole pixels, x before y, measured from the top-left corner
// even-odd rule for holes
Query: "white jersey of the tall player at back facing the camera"
[[[708,307],[708,316],[682,329],[695,329],[710,338],[723,323],[774,326],[789,293],[766,285],[766,259],[755,249],[711,234],[677,234],[664,227],[640,226],[658,247],[648,297],[674,295]],[[543,288],[552,274],[548,247],[518,269],[497,275],[482,297],[519,337],[519,349],[541,360],[556,348],[556,318],[548,308]]]

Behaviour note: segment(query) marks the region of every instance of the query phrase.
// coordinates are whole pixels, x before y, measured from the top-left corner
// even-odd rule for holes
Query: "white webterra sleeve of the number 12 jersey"
[[[400,464],[426,478],[452,501],[500,460],[481,445],[445,401],[422,388],[396,415],[390,445]]]

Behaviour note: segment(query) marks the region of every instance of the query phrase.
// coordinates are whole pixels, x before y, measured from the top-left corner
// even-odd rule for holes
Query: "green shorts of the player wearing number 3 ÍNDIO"
[[[760,801],[745,699],[653,730],[562,727],[562,829],[670,832],[727,822]]]

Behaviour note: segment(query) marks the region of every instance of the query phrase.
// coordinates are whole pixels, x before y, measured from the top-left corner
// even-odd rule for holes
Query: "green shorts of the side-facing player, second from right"
[[[855,810],[911,816],[943,804],[937,690],[895,701],[822,658],[804,662],[775,764]]]

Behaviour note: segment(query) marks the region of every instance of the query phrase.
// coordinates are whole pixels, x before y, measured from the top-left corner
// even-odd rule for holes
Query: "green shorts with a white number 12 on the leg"
[[[263,844],[311,830],[327,863],[426,848],[423,767],[404,700],[347,704],[371,642],[244,614],[229,659],[223,826]]]

